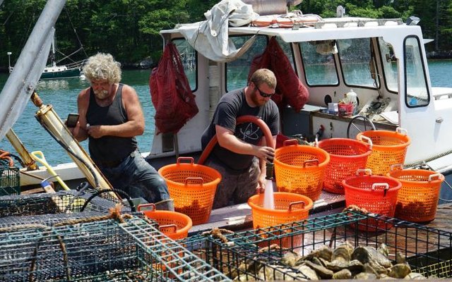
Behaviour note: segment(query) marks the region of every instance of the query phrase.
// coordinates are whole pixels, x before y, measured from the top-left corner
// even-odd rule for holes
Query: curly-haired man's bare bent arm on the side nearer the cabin
[[[119,125],[90,125],[88,134],[95,138],[102,136],[134,137],[144,132],[144,116],[138,94],[129,85],[122,88],[122,102],[128,121]]]

